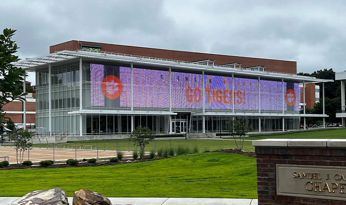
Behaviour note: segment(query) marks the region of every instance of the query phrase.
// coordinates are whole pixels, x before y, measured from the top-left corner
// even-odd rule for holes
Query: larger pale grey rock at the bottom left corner
[[[38,190],[26,194],[9,205],[69,205],[66,193],[60,188]]]

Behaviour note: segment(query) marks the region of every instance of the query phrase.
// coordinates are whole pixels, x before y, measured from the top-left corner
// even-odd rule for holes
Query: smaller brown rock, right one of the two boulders
[[[81,189],[73,193],[73,205],[112,205],[112,202],[102,194]]]

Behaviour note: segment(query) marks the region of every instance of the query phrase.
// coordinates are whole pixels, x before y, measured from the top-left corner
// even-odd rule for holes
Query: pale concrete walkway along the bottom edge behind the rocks
[[[8,205],[18,197],[0,197],[0,205]],[[72,204],[72,197],[68,202]],[[229,199],[229,198],[139,198],[139,197],[109,197],[112,204],[127,205],[257,205],[257,199]]]

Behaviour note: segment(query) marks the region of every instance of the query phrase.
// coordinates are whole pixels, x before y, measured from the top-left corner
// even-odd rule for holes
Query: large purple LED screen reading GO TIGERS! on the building
[[[131,107],[131,68],[91,64],[91,106]],[[281,81],[205,75],[205,109],[282,110]],[[234,94],[233,92],[234,84]],[[283,83],[284,110],[300,111],[299,84]],[[202,109],[202,75],[172,72],[172,108]],[[234,95],[234,100],[233,100]],[[169,72],[133,68],[133,106],[169,108]]]

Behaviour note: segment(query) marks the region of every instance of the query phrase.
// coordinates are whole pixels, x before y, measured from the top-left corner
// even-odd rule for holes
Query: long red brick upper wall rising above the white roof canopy
[[[63,50],[79,50],[80,43],[89,45],[100,45],[102,46],[101,51],[108,51],[114,53],[123,53],[130,55],[140,55],[148,57],[157,57],[165,59],[174,59],[182,61],[197,61],[203,59],[215,59],[215,65],[229,64],[229,63],[242,63],[241,67],[251,66],[266,66],[268,71],[284,72],[284,73],[297,73],[297,62],[287,60],[273,60],[263,58],[252,58],[252,57],[239,57],[231,55],[218,55],[209,53],[197,53],[197,52],[186,52],[186,51],[174,51],[165,49],[155,48],[144,48],[135,46],[123,46],[114,44],[103,44],[94,42],[83,42],[71,40],[62,44],[53,45],[50,47],[49,52],[54,53],[55,51]]]

